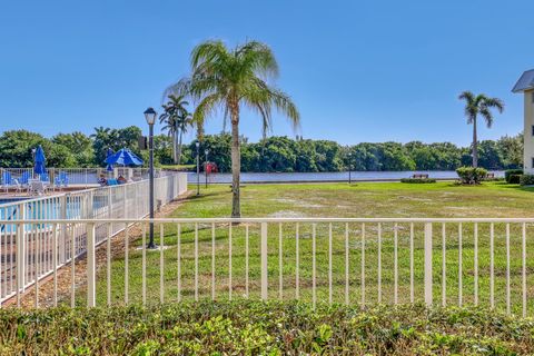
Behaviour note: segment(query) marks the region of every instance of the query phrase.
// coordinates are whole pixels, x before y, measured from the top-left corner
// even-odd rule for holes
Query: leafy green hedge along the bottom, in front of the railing
[[[532,355],[534,322],[483,308],[201,301],[0,310],[0,355]]]

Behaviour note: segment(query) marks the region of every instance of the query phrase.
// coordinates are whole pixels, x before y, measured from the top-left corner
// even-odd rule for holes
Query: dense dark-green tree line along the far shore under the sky
[[[31,149],[41,145],[49,167],[105,166],[108,148],[131,149],[148,164],[148,152],[139,149],[140,128],[95,128],[90,136],[82,132],[58,134],[46,138],[27,130],[4,131],[0,136],[0,167],[31,167]],[[260,172],[319,171],[387,171],[387,170],[454,170],[472,162],[472,148],[451,142],[424,144],[360,142],[342,146],[330,140],[297,137],[268,137],[250,142],[240,137],[241,170]],[[157,166],[172,165],[172,138],[155,136]],[[199,147],[200,162],[215,162],[221,172],[231,171],[230,134],[205,135]],[[181,162],[196,164],[196,140],[181,146]],[[478,166],[486,169],[522,167],[522,135],[478,142]]]

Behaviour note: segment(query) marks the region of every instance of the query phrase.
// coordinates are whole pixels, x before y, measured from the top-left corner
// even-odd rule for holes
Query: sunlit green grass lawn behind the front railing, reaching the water
[[[244,217],[533,217],[534,190],[502,182],[487,182],[476,187],[462,187],[452,182],[409,185],[397,182],[317,184],[317,185],[248,185],[243,188]],[[201,190],[200,197],[191,197],[171,217],[208,218],[228,217],[230,214],[230,189],[227,185],[210,186]],[[164,280],[165,299],[178,298],[177,226],[164,226],[165,250]],[[216,226],[216,298],[229,296],[229,226]],[[257,298],[260,291],[259,269],[259,226],[239,225],[231,227],[231,295],[234,298],[246,294],[245,231],[249,230],[249,296]],[[295,224],[281,227],[269,225],[268,275],[269,297],[279,295],[279,229],[283,236],[283,297],[294,298],[296,290],[296,240]],[[334,301],[345,300],[345,224],[333,224],[333,288]],[[434,227],[434,300],[441,301],[442,294],[442,236],[441,225]],[[328,300],[328,224],[317,225],[317,300]],[[382,301],[393,303],[394,298],[394,226],[382,226]],[[423,299],[423,226],[416,224],[414,251],[415,299]],[[156,227],[159,236],[159,226]],[[455,304],[458,298],[458,227],[446,227],[446,297]],[[511,278],[513,310],[521,313],[521,226],[511,227]],[[534,234],[527,226],[528,237]],[[349,224],[349,300],[362,299],[362,225]],[[472,303],[474,295],[474,234],[473,225],[463,226],[463,300]],[[195,227],[181,226],[181,297],[194,297],[195,276]],[[488,305],[490,299],[490,248],[488,226],[478,227],[478,293],[479,303]],[[199,297],[211,296],[211,226],[198,226],[198,270]],[[158,241],[159,243],[159,241]],[[300,298],[312,299],[312,225],[299,227],[299,280]],[[137,240],[132,245],[140,246]],[[534,251],[532,238],[527,240],[527,251]],[[495,225],[495,298],[497,308],[505,307],[505,226]],[[531,253],[532,256],[532,253]],[[377,225],[367,224],[365,241],[365,299],[378,301]],[[112,261],[112,299],[123,300],[125,260]],[[129,256],[129,300],[141,300],[141,251],[130,250]],[[534,259],[528,258],[528,309],[534,312]],[[160,254],[147,254],[148,303],[159,301]],[[398,300],[409,301],[409,225],[398,225]],[[80,294],[81,297],[82,293]],[[106,273],[98,276],[98,304],[106,303]],[[80,298],[81,299],[81,298]],[[80,300],[81,303],[81,300]]]

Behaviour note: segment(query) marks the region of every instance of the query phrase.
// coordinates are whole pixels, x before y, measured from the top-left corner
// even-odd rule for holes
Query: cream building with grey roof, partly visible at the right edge
[[[523,165],[525,172],[534,174],[534,69],[525,71],[512,89],[523,92],[524,100],[524,149]]]

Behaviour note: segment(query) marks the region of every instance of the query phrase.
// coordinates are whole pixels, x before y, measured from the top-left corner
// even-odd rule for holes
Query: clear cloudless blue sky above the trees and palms
[[[3,0],[0,131],[145,129],[142,111],[188,73],[190,50],[217,38],[273,48],[306,138],[466,145],[462,90],[506,103],[482,139],[515,135],[523,107],[511,88],[534,68],[533,13],[532,0]],[[260,137],[256,116],[241,122]],[[221,127],[214,117],[207,131]],[[273,134],[294,135],[283,117]]]

